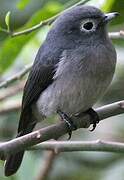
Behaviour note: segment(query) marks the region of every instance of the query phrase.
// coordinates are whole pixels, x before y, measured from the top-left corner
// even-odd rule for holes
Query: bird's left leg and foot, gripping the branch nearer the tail
[[[57,113],[61,117],[62,121],[65,121],[68,127],[69,139],[71,139],[72,131],[77,129],[77,126],[73,123],[73,120],[61,110],[57,110]]]

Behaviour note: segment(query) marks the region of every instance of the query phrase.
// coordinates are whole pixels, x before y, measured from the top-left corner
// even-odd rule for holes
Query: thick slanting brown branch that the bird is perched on
[[[124,101],[103,106],[96,109],[96,112],[99,115],[100,121],[111,116],[122,114],[124,113]],[[73,118],[73,122],[77,128],[88,128],[91,124],[90,116],[88,114],[85,114],[82,119],[78,119],[77,117]],[[59,122],[11,141],[1,143],[0,157],[6,157],[8,154],[19,152],[49,139],[58,139],[67,132],[68,128],[66,123]]]

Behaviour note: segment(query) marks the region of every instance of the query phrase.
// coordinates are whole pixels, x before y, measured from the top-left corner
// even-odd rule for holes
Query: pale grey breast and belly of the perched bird
[[[93,106],[110,84],[115,70],[114,49],[103,45],[96,51],[88,48],[85,56],[78,51],[64,51],[54,82],[36,103],[40,115],[50,116],[58,108],[68,115],[83,112]]]

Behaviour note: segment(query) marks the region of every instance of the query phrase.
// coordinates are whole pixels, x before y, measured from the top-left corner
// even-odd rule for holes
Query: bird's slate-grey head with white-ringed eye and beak
[[[63,38],[79,37],[89,38],[90,36],[103,36],[106,33],[106,25],[117,12],[104,14],[93,6],[76,6],[64,11],[53,23],[53,30],[57,36]]]

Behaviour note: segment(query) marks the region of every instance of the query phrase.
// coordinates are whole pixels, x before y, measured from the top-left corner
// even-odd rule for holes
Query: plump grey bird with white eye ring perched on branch
[[[54,114],[66,121],[70,136],[76,129],[72,117],[82,112],[94,117],[95,129],[99,119],[92,107],[110,85],[116,67],[107,26],[117,15],[80,5],[52,23],[24,87],[17,137]],[[6,157],[5,176],[16,173],[23,155],[21,151]]]

